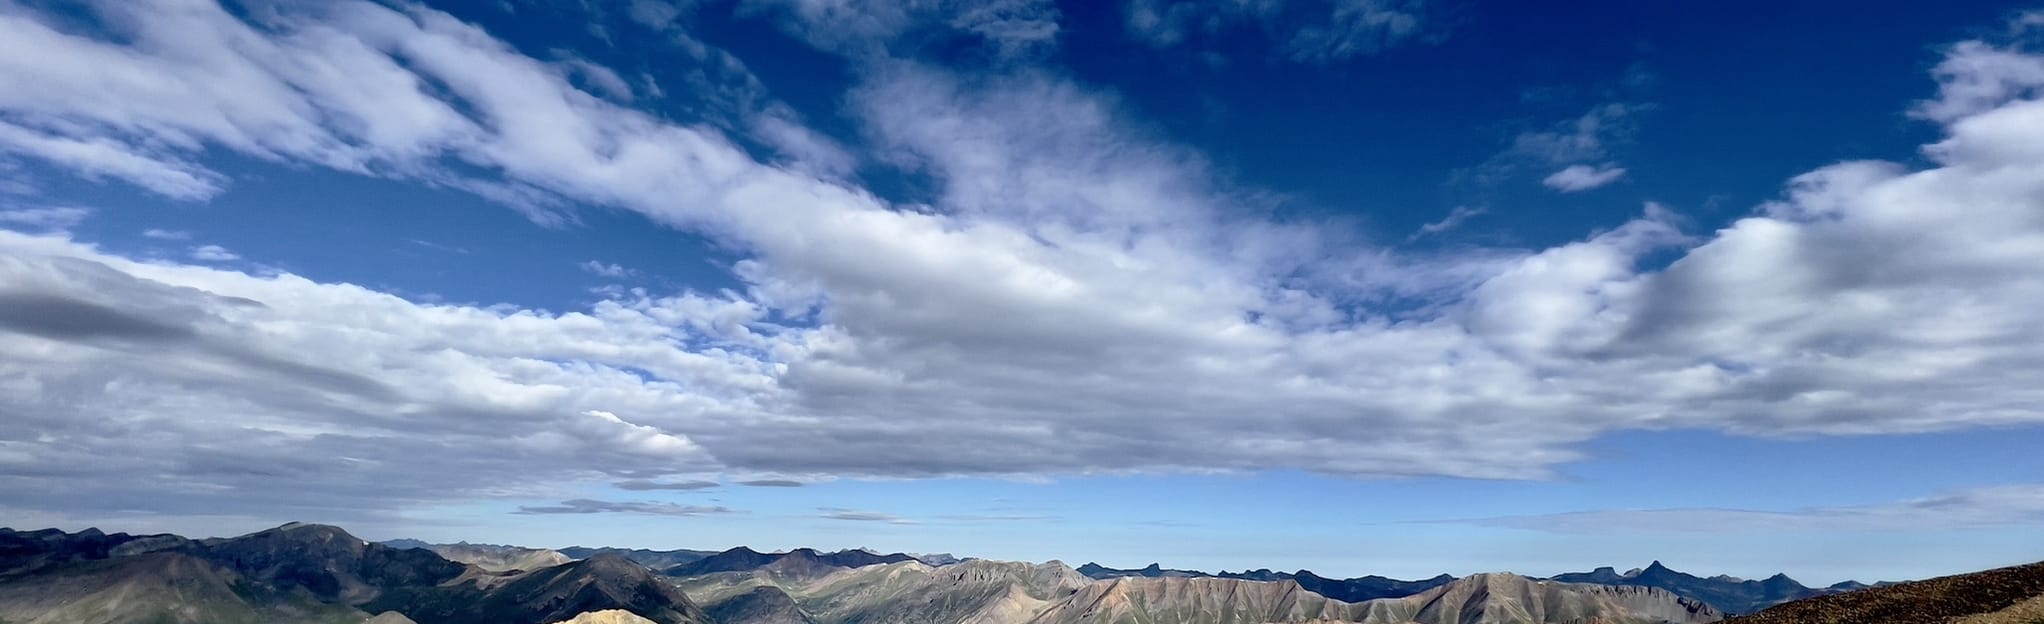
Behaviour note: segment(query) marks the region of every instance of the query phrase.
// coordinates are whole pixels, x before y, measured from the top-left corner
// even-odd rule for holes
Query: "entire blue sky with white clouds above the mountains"
[[[2044,12],[1860,8],[0,2],[0,518],[2044,559]]]

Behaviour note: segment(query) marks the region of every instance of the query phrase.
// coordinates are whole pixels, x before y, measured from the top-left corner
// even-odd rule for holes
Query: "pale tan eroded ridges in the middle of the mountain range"
[[[711,604],[758,599],[799,608],[814,624],[1664,624],[1717,622],[1694,599],[1654,587],[1560,583],[1519,575],[1472,575],[1433,589],[1369,601],[1341,601],[1294,579],[1212,575],[1126,575],[1091,579],[1063,563],[920,561],[820,571],[764,565],[752,571],[679,579]]]

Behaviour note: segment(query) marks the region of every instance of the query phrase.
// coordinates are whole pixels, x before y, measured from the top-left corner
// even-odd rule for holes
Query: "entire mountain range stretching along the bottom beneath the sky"
[[[1923,612],[1946,620],[2015,610],[2015,618],[2040,604],[2044,573],[1993,573],[1987,581],[1866,589],[1860,583],[1805,587],[1780,575],[1760,581],[1694,577],[1654,563],[1627,573],[1596,569],[1551,579],[1480,573],[1400,581],[1157,565],[1075,569],[1059,561],[869,550],[366,542],[317,524],[208,540],[0,530],[0,622],[1703,624],[1831,622],[1780,614],[1856,610]],[[1911,589],[1917,585],[1936,591]],[[1874,606],[1858,606],[1862,597]],[[1907,606],[1915,597],[1952,606]],[[1725,620],[1727,614],[1754,616]]]

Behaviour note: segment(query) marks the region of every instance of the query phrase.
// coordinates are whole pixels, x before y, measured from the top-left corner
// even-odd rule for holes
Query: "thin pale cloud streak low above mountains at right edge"
[[[1468,520],[1468,524],[1525,528],[1564,534],[1609,532],[1864,532],[1864,530],[1952,530],[2030,526],[2044,522],[2044,485],[2001,485],[1940,493],[1921,499],[1762,509],[1609,509],[1549,516]]]

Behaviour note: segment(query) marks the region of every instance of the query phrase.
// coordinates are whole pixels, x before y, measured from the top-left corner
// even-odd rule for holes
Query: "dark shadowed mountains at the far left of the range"
[[[711,622],[619,556],[491,573],[317,524],[213,540],[0,530],[4,622],[354,624],[382,614],[380,624],[544,624],[601,610]]]

